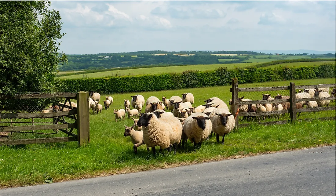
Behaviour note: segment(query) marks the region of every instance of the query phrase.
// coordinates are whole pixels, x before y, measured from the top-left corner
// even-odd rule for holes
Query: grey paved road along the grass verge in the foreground
[[[332,195],[335,146],[0,190],[1,196]]]

